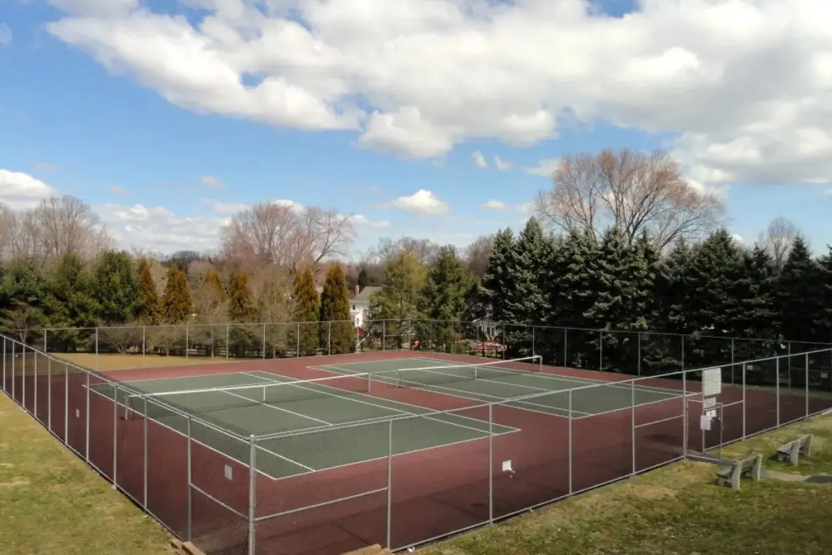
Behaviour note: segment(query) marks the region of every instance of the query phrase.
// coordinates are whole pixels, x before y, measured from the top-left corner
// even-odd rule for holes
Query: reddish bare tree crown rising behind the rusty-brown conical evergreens
[[[316,207],[262,202],[234,216],[221,232],[222,254],[255,270],[274,264],[295,268],[344,255],[354,239],[353,218]]]

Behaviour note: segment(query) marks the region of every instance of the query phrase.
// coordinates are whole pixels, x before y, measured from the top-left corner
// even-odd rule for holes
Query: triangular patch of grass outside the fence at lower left
[[[170,535],[0,394],[0,553],[174,553]]]

